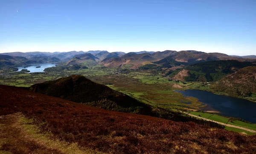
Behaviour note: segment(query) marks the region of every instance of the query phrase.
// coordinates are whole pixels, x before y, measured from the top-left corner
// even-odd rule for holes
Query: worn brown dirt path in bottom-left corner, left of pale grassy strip
[[[19,119],[21,114],[0,117],[0,153],[13,154],[62,154],[58,149],[48,147],[24,131]]]

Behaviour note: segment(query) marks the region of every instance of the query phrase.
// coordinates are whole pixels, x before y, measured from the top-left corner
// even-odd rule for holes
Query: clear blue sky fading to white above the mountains
[[[0,0],[0,53],[256,54],[256,0]]]

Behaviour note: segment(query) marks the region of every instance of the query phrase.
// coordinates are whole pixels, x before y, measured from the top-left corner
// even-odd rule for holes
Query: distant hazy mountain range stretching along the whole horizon
[[[255,58],[255,59],[253,59]],[[189,65],[211,60],[256,61],[255,55],[229,56],[222,53],[205,53],[201,51],[140,51],[140,52],[108,52],[108,51],[69,51],[69,52],[11,52],[0,54],[0,67],[17,67],[37,63],[66,63],[76,65],[93,60],[106,67],[122,67],[131,64],[137,69],[144,65],[173,67]]]

